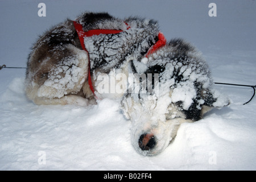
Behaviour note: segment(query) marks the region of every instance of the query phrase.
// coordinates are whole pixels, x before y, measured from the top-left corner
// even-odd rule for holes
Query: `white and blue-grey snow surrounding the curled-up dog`
[[[217,17],[208,16],[215,2]],[[183,37],[199,48],[215,82],[255,85],[256,2],[246,1],[0,0],[0,65],[26,67],[29,48],[47,28],[82,11],[159,20],[167,40]],[[138,154],[127,121],[112,100],[79,107],[37,106],[24,94],[25,69],[0,71],[1,170],[255,170],[256,99],[253,89],[216,85],[232,100],[204,119],[181,125],[160,155]],[[45,163],[44,163],[45,162]]]

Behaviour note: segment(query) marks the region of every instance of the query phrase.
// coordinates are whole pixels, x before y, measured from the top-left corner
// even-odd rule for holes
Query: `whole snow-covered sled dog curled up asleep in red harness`
[[[26,72],[27,97],[38,105],[119,99],[143,155],[163,151],[181,123],[229,104],[212,85],[207,63],[190,44],[166,43],[155,20],[107,13],[81,14],[40,36]]]

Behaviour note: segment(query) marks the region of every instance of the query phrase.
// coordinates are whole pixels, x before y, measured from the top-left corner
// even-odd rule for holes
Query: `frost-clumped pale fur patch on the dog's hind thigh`
[[[57,67],[49,71],[48,79],[38,90],[38,97],[61,98],[79,92],[88,74],[86,61],[81,60],[88,60],[82,51],[76,56],[64,57]]]

